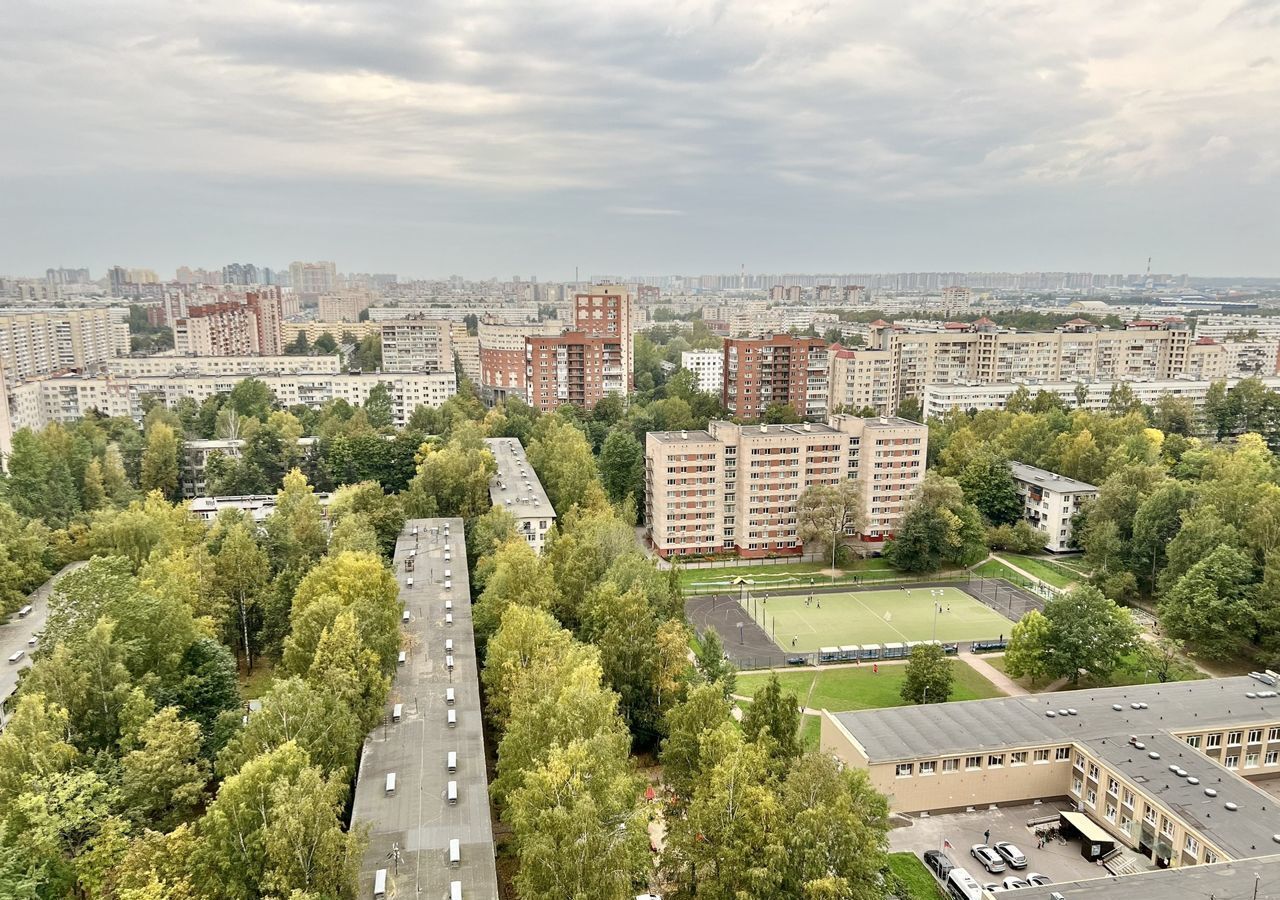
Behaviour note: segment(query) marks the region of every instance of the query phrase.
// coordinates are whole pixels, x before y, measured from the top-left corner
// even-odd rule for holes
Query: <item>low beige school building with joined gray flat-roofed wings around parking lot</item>
[[[1251,781],[1280,775],[1274,682],[1236,676],[823,712],[820,744],[867,771],[896,812],[1065,798],[1157,867],[1213,864],[1280,840],[1280,805]]]

